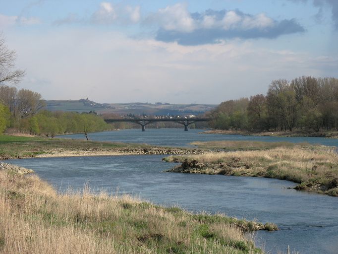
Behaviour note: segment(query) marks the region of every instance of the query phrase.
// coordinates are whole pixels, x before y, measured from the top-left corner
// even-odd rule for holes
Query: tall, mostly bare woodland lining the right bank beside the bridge
[[[225,101],[210,117],[211,127],[218,129],[338,130],[338,79],[273,80],[266,95]]]

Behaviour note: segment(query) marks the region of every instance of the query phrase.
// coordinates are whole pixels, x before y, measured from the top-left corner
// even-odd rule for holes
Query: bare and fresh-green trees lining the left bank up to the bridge
[[[0,86],[0,133],[13,127],[21,132],[54,137],[56,134],[87,133],[110,129],[95,112],[49,112],[40,93]],[[87,137],[88,139],[88,137]]]

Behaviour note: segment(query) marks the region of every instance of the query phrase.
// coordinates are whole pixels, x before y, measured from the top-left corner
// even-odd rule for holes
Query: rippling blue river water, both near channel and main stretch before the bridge
[[[325,138],[277,138],[198,134],[200,130],[120,130],[91,133],[105,141],[188,146],[192,141],[264,140],[336,145]],[[81,137],[68,135],[67,137]],[[280,231],[254,234],[266,252],[291,250],[304,254],[338,253],[338,198],[287,189],[295,184],[276,179],[166,173],[174,163],[161,155],[31,158],[8,160],[35,170],[58,191],[82,190],[127,193],[162,205],[178,205],[188,211],[225,213],[237,218],[274,222]]]

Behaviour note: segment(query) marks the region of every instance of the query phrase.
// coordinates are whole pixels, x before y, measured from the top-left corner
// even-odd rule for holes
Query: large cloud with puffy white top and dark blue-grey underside
[[[239,10],[206,10],[190,13],[186,5],[177,3],[159,9],[146,18],[146,24],[157,24],[156,39],[176,41],[182,45],[215,43],[241,38],[277,38],[284,34],[305,32],[295,19],[277,21],[265,13],[251,15]]]

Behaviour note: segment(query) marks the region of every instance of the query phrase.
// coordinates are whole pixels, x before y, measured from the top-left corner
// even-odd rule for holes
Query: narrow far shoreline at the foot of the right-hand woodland
[[[229,134],[229,135],[252,135],[252,136],[275,136],[275,137],[328,137],[338,138],[338,131],[311,131],[311,130],[293,130],[293,131],[247,131],[247,130],[206,130],[205,134]]]

